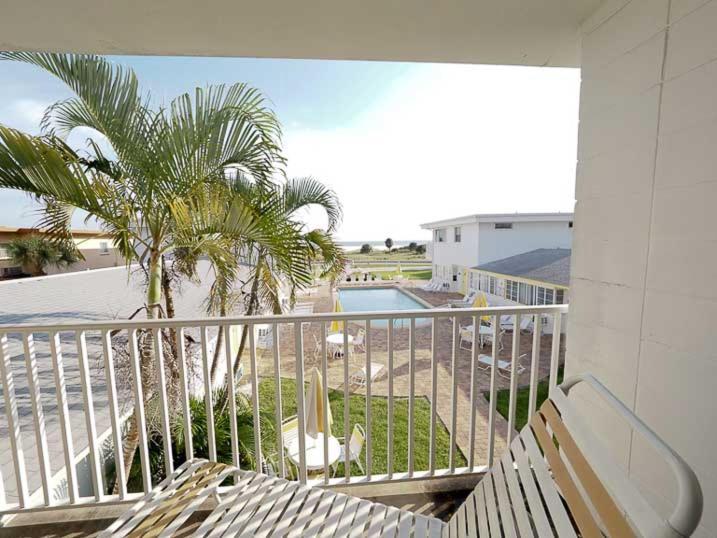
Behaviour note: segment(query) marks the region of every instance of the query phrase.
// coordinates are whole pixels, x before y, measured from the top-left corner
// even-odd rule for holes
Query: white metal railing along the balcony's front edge
[[[259,397],[259,370],[257,339],[254,334],[254,327],[262,324],[269,326],[271,335],[271,349],[268,351],[262,362],[271,365],[273,362],[273,382],[275,384],[275,409],[272,410],[275,421],[276,432],[276,456],[277,473],[285,476],[289,472],[290,464],[285,458],[282,439],[282,423],[284,416],[282,412],[281,377],[293,370],[293,379],[296,382],[296,404],[298,419],[298,440],[299,440],[299,462],[297,467],[297,479],[302,483],[334,485],[356,482],[385,482],[400,480],[426,479],[435,476],[447,476],[466,473],[483,472],[491,466],[494,460],[496,437],[500,435],[496,431],[496,392],[498,390],[499,378],[498,369],[495,367],[497,361],[493,361],[493,367],[488,368],[484,375],[489,378],[489,410],[487,417],[487,453],[482,458],[480,465],[476,461],[477,439],[477,413],[478,399],[482,394],[478,390],[478,376],[483,375],[482,370],[477,368],[479,360],[479,346],[472,345],[471,351],[462,351],[459,348],[459,335],[461,322],[468,321],[473,327],[473,334],[476,335],[474,342],[477,344],[477,335],[481,320],[490,316],[492,325],[492,357],[499,354],[501,319],[505,316],[512,316],[513,327],[519,328],[521,317],[531,316],[534,318],[532,355],[529,372],[524,379],[529,378],[529,412],[536,407],[537,388],[539,382],[540,348],[541,348],[541,324],[544,318],[551,321],[553,328],[552,341],[550,346],[550,386],[555,386],[558,375],[558,363],[560,355],[560,329],[561,317],[567,313],[567,305],[529,306],[529,307],[494,307],[494,308],[470,308],[470,309],[421,309],[410,311],[391,312],[356,312],[356,313],[326,313],[310,315],[281,315],[281,316],[250,316],[235,318],[200,318],[200,319],[162,319],[162,320],[132,320],[132,321],[94,321],[82,323],[70,323],[62,325],[0,325],[0,375],[2,377],[2,392],[4,402],[5,423],[0,422],[0,427],[7,428],[7,442],[10,445],[9,453],[12,462],[0,462],[0,469],[4,476],[0,476],[0,510],[6,513],[31,509],[35,506],[47,507],[53,505],[64,506],[67,504],[92,504],[99,502],[117,502],[128,500],[139,495],[139,492],[128,492],[125,487],[123,450],[122,443],[126,437],[126,425],[123,418],[134,413],[135,420],[139,424],[139,459],[141,466],[142,490],[147,492],[156,483],[152,474],[148,431],[147,431],[147,410],[145,409],[142,386],[142,370],[140,365],[140,350],[138,348],[139,334],[142,331],[151,332],[153,335],[152,350],[155,359],[154,379],[151,380],[152,390],[158,395],[159,402],[159,428],[161,431],[161,452],[163,453],[163,469],[160,472],[169,474],[173,471],[175,458],[192,458],[195,454],[197,439],[192,435],[192,424],[190,416],[190,392],[188,387],[190,371],[192,366],[188,364],[188,357],[185,355],[185,342],[188,332],[198,331],[200,353],[197,360],[201,362],[201,383],[204,387],[204,407],[207,416],[206,444],[210,459],[217,458],[217,438],[214,424],[214,402],[213,391],[210,384],[210,370],[212,353],[210,353],[211,334],[222,326],[225,328],[224,353],[220,360],[225,361],[226,371],[231,371],[234,357],[231,345],[231,326],[246,325],[248,330],[248,351],[245,352],[242,360],[249,362],[250,384],[251,384],[251,409],[253,411],[254,427],[254,459],[257,470],[261,470],[264,461],[266,447],[262,443],[260,432],[262,422],[260,420],[260,397]],[[375,382],[371,375],[366,376],[366,409],[365,409],[365,475],[353,476],[349,461],[349,451],[345,451],[344,474],[340,477],[331,476],[330,462],[328,461],[328,440],[324,438],[324,474],[322,477],[311,477],[306,466],[305,455],[305,363],[306,353],[304,345],[304,334],[308,327],[319,327],[322,336],[327,334],[327,329],[332,321],[342,321],[344,326],[359,324],[368,329],[365,341],[365,367],[370,372],[370,365],[374,356],[379,352],[385,352],[385,364],[387,379],[382,396],[386,398],[387,405],[387,463],[385,472],[377,473],[374,470],[373,457],[376,453],[376,442],[372,435],[372,421],[376,419],[372,412],[372,396],[376,393],[372,386]],[[408,323],[394,323],[397,320],[408,320]],[[418,326],[417,320],[420,320]],[[428,326],[423,326],[425,320],[429,320]],[[385,328],[379,325],[385,323]],[[293,329],[293,346],[290,341],[283,342],[286,328]],[[168,394],[167,394],[167,372],[165,371],[162,346],[166,345],[167,339],[162,338],[162,333],[169,333],[172,329],[176,338],[178,350],[178,386],[180,393],[179,406],[176,415],[169,415]],[[283,329],[283,330],[282,330]],[[375,338],[383,338],[385,331],[385,346],[378,346]],[[428,447],[417,447],[415,436],[415,412],[416,412],[416,382],[418,362],[416,359],[420,343],[417,343],[417,332],[423,331],[424,336],[423,352],[430,360],[430,368],[421,373],[424,385],[430,384],[426,392],[430,395],[430,431],[428,433]],[[442,333],[441,333],[442,331]],[[446,341],[446,331],[450,335]],[[441,336],[441,333],[443,336]],[[350,349],[348,331],[343,331],[343,350]],[[131,394],[123,395],[117,380],[118,371],[117,358],[113,353],[113,338],[126,338],[128,348],[128,370],[123,370],[121,375],[123,383],[130,387]],[[405,342],[402,348],[397,341]],[[549,337],[545,337],[549,338]],[[88,352],[88,341],[92,343],[92,353]],[[520,334],[514,332],[511,347],[511,368],[509,383],[510,409],[508,417],[508,429],[504,439],[510,442],[513,435],[516,414],[516,395],[519,384],[518,364],[520,357]],[[47,345],[45,345],[47,343]],[[74,343],[74,346],[72,345]],[[379,347],[382,349],[379,350]],[[42,348],[42,349],[41,349]],[[76,352],[69,353],[67,350],[76,348]],[[400,349],[399,349],[400,348]],[[290,352],[287,353],[287,350]],[[408,357],[408,393],[399,395],[396,393],[395,365],[397,353],[400,352]],[[67,357],[75,354],[76,363],[70,364]],[[90,367],[89,357],[96,359],[97,365],[101,365],[102,375],[94,375]],[[468,355],[466,357],[466,355]],[[443,357],[442,359],[440,357]],[[334,416],[334,421],[343,423],[342,431],[346,442],[351,436],[351,423],[349,414],[349,399],[351,396],[349,386],[349,363],[350,353],[343,353],[339,359],[328,358],[328,349],[325,338],[321,338],[319,353],[319,368],[323,374],[323,401],[325,407],[329,405],[329,376],[328,368],[337,364],[343,367],[343,407],[342,417]],[[467,398],[469,404],[460,406],[461,399],[458,393],[459,384],[465,379],[459,379],[461,369],[459,361],[470,361],[470,380]],[[337,362],[336,362],[337,361]],[[441,363],[443,361],[443,364]],[[98,366],[99,367],[99,366]],[[451,386],[440,386],[439,371],[445,367],[450,372]],[[72,372],[74,381],[68,380],[68,372]],[[465,371],[463,368],[462,371]],[[79,374],[79,375],[78,375]],[[268,377],[268,376],[267,376]],[[465,377],[465,376],[464,376]],[[383,380],[382,380],[383,381]],[[486,380],[487,381],[487,380]],[[26,386],[26,390],[25,390]],[[228,390],[235,393],[234,376],[228,376]],[[336,389],[334,389],[336,390]],[[81,392],[81,405],[77,402],[68,404],[68,394],[73,395]],[[437,432],[439,426],[438,402],[441,398],[447,397],[450,401],[450,412],[448,417],[442,417],[442,422],[448,430],[449,454],[448,467],[437,468]],[[74,396],[77,397],[77,396]],[[396,458],[394,453],[396,440],[396,402],[397,399],[405,399],[408,408],[408,432],[407,432],[407,462],[405,471],[396,471]],[[122,409],[120,401],[123,400],[127,409]],[[239,427],[237,425],[236,401],[228,398],[229,421],[230,421],[230,444],[231,459],[235,465],[240,464],[240,442]],[[52,407],[52,426],[48,428],[48,415],[46,410]],[[80,409],[81,407],[81,409]],[[460,407],[460,409],[459,409]],[[27,411],[30,409],[31,413]],[[467,431],[459,430],[458,414],[467,413],[469,416]],[[101,438],[102,432],[98,431],[97,420],[102,419],[106,423],[107,438],[111,441],[111,447],[106,452],[115,461],[119,488],[116,494],[108,494],[108,479],[103,466]],[[171,442],[171,429],[173,420],[183,422],[183,453],[177,454],[175,446]],[[328,430],[326,414],[324,414],[324,429]],[[465,424],[464,420],[460,421]],[[57,423],[57,426],[55,426]],[[81,431],[84,430],[84,431]],[[466,428],[464,428],[466,430]],[[30,434],[29,432],[32,432]],[[459,436],[467,436],[467,454],[465,459],[467,465],[458,465],[457,439]],[[0,442],[2,442],[0,435]],[[28,440],[28,438],[30,440]],[[32,444],[31,451],[24,452],[23,446]],[[48,439],[51,439],[48,441]],[[59,440],[58,440],[59,439]],[[79,454],[85,452],[78,450],[78,446],[86,447],[88,455],[89,478],[85,477],[85,484],[78,477],[76,471]],[[3,452],[0,446],[0,453]],[[417,449],[427,448],[428,465],[425,469],[417,469],[415,456]],[[465,447],[464,447],[465,452]],[[36,453],[36,456],[35,454]],[[7,452],[6,452],[7,454]],[[31,460],[28,464],[28,460]],[[29,471],[37,469],[39,473]],[[58,482],[64,483],[65,495],[54,495]]]

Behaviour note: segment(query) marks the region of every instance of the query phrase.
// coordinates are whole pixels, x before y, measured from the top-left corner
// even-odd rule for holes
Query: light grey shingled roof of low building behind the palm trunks
[[[200,264],[202,284],[184,283],[178,293],[176,310],[178,317],[200,317],[204,313],[203,301],[207,296],[211,277],[209,265]],[[127,319],[144,303],[143,273],[138,269],[127,271],[125,267],[67,273],[49,277],[29,278],[0,282],[0,325],[18,323],[61,324],[105,319]],[[30,492],[40,487],[39,458],[33,430],[27,374],[22,340],[19,334],[8,334],[15,396],[22,432],[25,464]],[[57,474],[56,487],[61,494],[62,479],[65,476],[64,452],[60,436],[54,373],[49,355],[48,335],[34,335],[40,379],[40,392],[47,428],[50,467]],[[62,355],[64,358],[70,428],[76,457],[86,454],[88,439],[85,426],[85,412],[80,385],[80,373],[75,335],[61,333]],[[107,387],[102,366],[102,351],[99,334],[87,333],[87,349],[90,377],[94,397],[94,410],[98,436],[104,441],[109,435],[109,414],[107,412]],[[131,411],[131,398],[127,383],[121,383],[125,390],[120,394],[121,413]],[[0,393],[2,392],[0,383]],[[9,441],[5,401],[0,397],[0,472],[8,502],[16,501],[15,474]],[[80,492],[91,495],[91,490]],[[41,497],[40,497],[41,499]]]

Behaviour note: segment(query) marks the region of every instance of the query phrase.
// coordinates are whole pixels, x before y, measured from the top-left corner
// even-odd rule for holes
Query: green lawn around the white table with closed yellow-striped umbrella
[[[259,385],[259,402],[262,411],[275,413],[275,384],[273,379],[262,380]],[[284,417],[296,414],[296,382],[291,379],[281,380],[281,407]],[[373,447],[373,474],[387,472],[388,462],[388,400],[383,397],[371,399],[371,432]],[[329,389],[329,405],[334,417],[332,433],[336,437],[344,436],[344,394],[342,390]],[[414,469],[428,469],[428,446],[430,435],[431,406],[427,399],[416,398],[414,400],[415,421],[414,421]],[[349,416],[351,429],[358,423],[366,426],[366,397],[360,394],[349,396]],[[448,430],[443,426],[440,419],[437,421],[436,431],[436,468],[448,467]],[[273,437],[273,436],[272,436]],[[273,439],[264,440],[264,449],[267,454],[277,453]],[[271,445],[271,446],[270,446]],[[406,398],[394,398],[394,434],[393,434],[393,470],[403,472],[408,470],[408,400]],[[361,462],[366,462],[366,449],[361,453]],[[466,465],[466,460],[461,451],[456,447],[456,466]],[[361,474],[356,464],[352,464],[351,473]],[[343,474],[343,464],[337,469],[337,476]]]

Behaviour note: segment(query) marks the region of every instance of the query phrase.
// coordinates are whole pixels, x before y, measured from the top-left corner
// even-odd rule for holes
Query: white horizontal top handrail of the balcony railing
[[[262,323],[311,323],[320,321],[365,321],[387,319],[417,319],[434,317],[453,317],[455,315],[503,316],[511,314],[555,314],[567,313],[568,305],[535,306],[494,306],[483,308],[432,308],[415,310],[369,310],[365,312],[317,312],[312,314],[271,314],[256,316],[227,316],[201,318],[162,318],[162,319],[108,319],[70,323],[18,323],[0,324],[0,333],[61,332],[61,331],[101,331],[118,329],[180,328],[180,327],[216,327],[218,325],[258,325]]]

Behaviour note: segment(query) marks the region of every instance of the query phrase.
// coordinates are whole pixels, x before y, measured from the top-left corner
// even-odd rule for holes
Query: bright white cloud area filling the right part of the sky
[[[421,238],[421,222],[476,212],[570,211],[578,98],[576,70],[427,66],[353,125],[289,129],[288,172],[338,193],[344,239]]]

